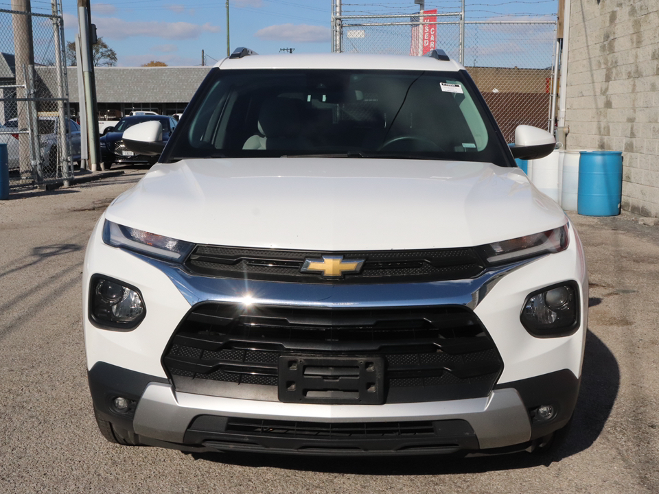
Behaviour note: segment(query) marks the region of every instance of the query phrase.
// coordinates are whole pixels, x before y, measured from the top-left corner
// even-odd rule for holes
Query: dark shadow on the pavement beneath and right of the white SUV
[[[206,460],[243,467],[271,467],[323,473],[365,475],[441,475],[482,473],[548,466],[588,449],[601,434],[620,387],[618,362],[608,347],[591,331],[586,335],[581,390],[570,432],[562,445],[540,454],[526,452],[502,456],[457,458],[452,456],[321,457],[250,453],[194,453]]]

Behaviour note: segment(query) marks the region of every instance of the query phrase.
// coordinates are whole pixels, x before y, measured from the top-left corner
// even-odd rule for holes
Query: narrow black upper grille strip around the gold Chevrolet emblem
[[[327,279],[303,273],[305,259],[321,259],[337,252],[246,249],[199,245],[185,262],[191,272],[264,281],[295,283],[395,283],[446,281],[477,277],[484,263],[472,248],[338,252],[344,259],[365,259],[357,274]]]

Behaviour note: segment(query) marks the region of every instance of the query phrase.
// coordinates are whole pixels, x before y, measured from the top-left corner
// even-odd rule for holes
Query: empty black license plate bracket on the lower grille
[[[384,403],[382,357],[279,357],[279,401],[381,405]]]

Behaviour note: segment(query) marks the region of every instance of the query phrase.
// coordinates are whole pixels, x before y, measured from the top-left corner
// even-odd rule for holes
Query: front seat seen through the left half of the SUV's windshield
[[[245,141],[244,150],[297,150],[308,146],[302,129],[299,99],[266,99],[259,112],[258,130]]]

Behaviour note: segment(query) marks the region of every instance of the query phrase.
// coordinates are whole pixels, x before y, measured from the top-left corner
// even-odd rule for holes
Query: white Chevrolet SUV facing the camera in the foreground
[[[481,93],[431,57],[219,62],[84,261],[89,386],[124,445],[487,454],[570,423],[581,242]]]

